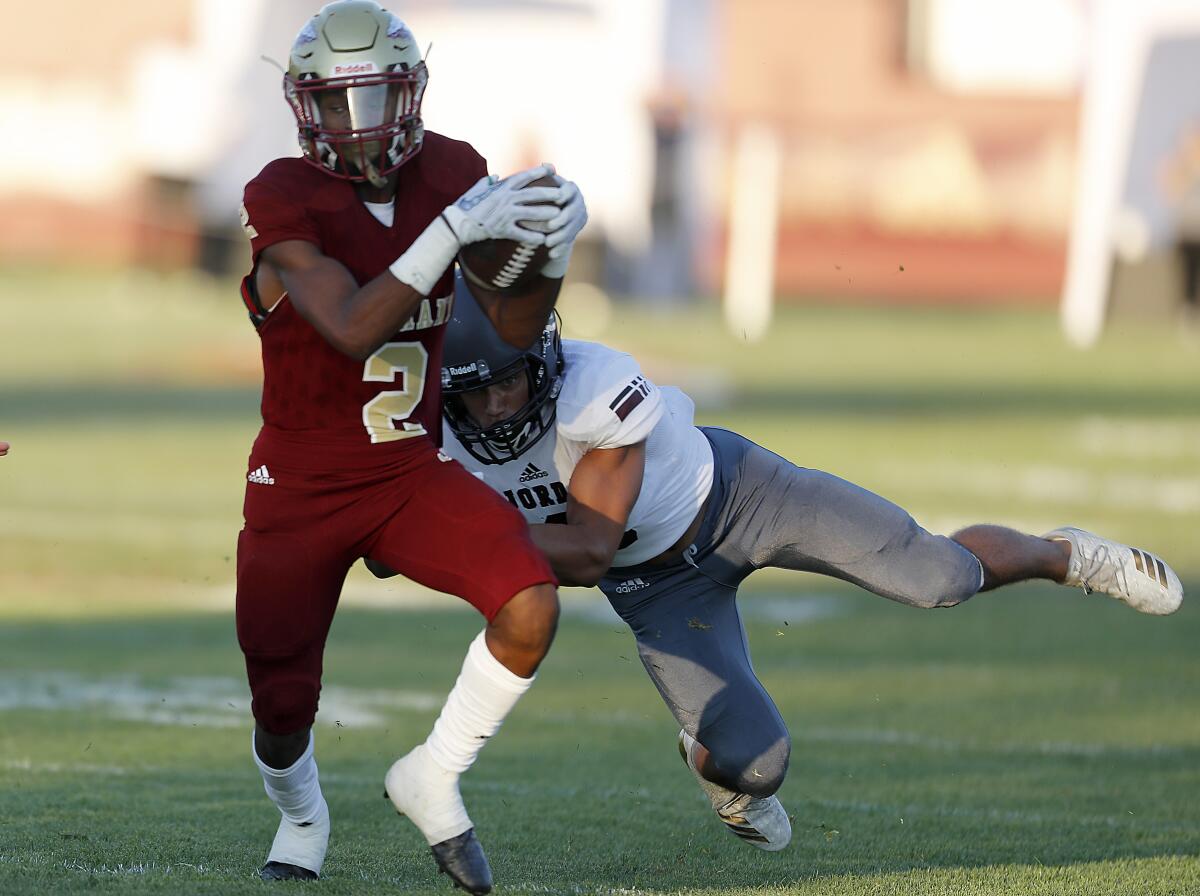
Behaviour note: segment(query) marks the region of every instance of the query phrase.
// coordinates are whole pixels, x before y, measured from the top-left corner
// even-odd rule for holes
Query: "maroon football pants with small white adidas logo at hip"
[[[272,734],[312,724],[325,638],[359,558],[457,595],[488,621],[517,593],[554,582],[504,498],[439,459],[428,440],[412,443],[373,446],[384,463],[359,470],[312,445],[298,451],[278,431],[264,428],[254,443],[248,469],[258,475],[238,537],[238,642],[254,718]]]

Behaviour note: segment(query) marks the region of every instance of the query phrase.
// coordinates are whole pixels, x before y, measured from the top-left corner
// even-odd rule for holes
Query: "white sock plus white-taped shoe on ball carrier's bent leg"
[[[504,668],[480,632],[467,650],[433,733],[388,771],[385,786],[392,804],[416,824],[431,846],[472,828],[458,776],[475,762],[532,684],[533,678]]]

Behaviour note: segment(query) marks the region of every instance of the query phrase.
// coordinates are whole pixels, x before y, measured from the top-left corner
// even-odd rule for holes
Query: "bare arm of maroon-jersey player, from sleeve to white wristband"
[[[344,265],[310,242],[276,243],[262,260],[259,293],[270,299],[286,291],[330,345],[356,360],[386,342],[425,299],[389,271],[359,287]]]

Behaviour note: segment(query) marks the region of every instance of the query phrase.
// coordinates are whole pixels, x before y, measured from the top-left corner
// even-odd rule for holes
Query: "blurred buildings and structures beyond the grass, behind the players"
[[[1106,281],[1116,264],[1111,283],[1088,288],[1164,313],[1200,291],[1181,249],[1200,240],[1192,7],[410,0],[397,11],[431,48],[427,125],[472,142],[499,174],[556,161],[592,209],[576,273],[608,294],[688,302],[727,291],[728,269],[744,264],[767,265],[750,279],[784,301],[1045,306],[1064,291],[1086,206],[1106,233],[1075,234],[1087,245],[1072,275],[1103,269]],[[38,136],[2,150],[4,259],[242,270],[241,187],[296,152],[262,56],[286,62],[316,5],[55,8],[73,24],[53,52],[14,46],[0,88]],[[6,20],[32,32],[43,14],[25,5]],[[767,246],[731,257],[746,228]]]

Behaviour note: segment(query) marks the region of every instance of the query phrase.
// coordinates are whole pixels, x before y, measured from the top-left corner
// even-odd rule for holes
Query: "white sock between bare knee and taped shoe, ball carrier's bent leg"
[[[425,741],[430,758],[446,771],[464,772],[532,684],[533,678],[504,668],[480,632],[470,642],[458,680]]]

